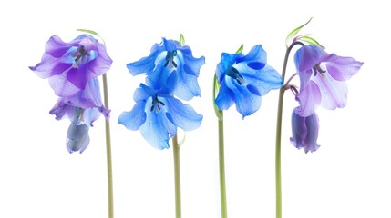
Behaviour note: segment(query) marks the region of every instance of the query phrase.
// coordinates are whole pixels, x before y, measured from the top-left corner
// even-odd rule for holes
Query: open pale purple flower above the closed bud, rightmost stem
[[[301,116],[314,114],[321,105],[334,110],[346,104],[347,85],[363,65],[352,57],[327,54],[321,46],[304,45],[294,54],[294,63],[300,77],[300,92],[296,99],[300,107],[296,113]]]

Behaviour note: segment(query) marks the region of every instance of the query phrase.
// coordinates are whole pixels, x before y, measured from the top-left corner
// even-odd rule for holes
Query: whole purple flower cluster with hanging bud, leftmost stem
[[[102,104],[98,76],[112,64],[105,45],[91,35],[79,35],[69,43],[53,35],[46,43],[42,60],[29,68],[41,78],[48,78],[58,96],[50,110],[60,120],[67,117],[67,150],[82,153],[89,143],[89,126],[110,111]]]

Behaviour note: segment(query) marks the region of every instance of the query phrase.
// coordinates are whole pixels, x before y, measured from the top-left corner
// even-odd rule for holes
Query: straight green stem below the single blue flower
[[[220,198],[221,198],[221,218],[227,218],[227,198],[225,193],[225,161],[224,161],[224,122],[223,114],[219,122],[219,169],[220,169]]]

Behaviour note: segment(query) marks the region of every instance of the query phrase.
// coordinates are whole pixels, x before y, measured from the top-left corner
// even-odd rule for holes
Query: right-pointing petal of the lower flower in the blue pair
[[[166,98],[166,116],[170,122],[184,131],[194,130],[201,125],[202,115],[197,114],[194,109],[187,104],[183,104],[176,98]]]

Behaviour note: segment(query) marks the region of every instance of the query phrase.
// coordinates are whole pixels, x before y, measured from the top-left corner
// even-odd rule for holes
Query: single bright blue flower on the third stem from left
[[[279,89],[283,79],[272,66],[266,64],[266,52],[255,45],[249,54],[221,54],[216,75],[220,84],[215,104],[227,110],[236,104],[243,118],[261,106],[261,97],[272,89]]]

